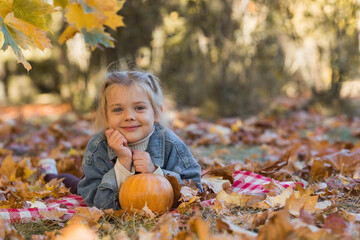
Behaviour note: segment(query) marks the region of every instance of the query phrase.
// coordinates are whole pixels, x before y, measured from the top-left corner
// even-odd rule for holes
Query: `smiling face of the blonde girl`
[[[111,86],[107,92],[107,119],[129,143],[147,137],[154,127],[155,114],[150,99],[140,87]]]

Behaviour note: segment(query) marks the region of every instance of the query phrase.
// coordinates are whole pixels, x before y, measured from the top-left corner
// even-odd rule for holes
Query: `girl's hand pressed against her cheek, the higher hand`
[[[105,131],[105,135],[109,146],[114,150],[118,156],[118,161],[127,169],[131,170],[132,153],[127,145],[125,137],[113,128]]]

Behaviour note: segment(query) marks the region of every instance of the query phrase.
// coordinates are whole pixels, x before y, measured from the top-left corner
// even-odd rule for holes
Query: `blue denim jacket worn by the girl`
[[[192,179],[202,192],[201,168],[188,147],[171,130],[155,124],[146,150],[154,165],[164,175],[175,176],[180,183]],[[78,194],[85,203],[100,209],[120,209],[119,186],[117,186],[114,161],[115,152],[109,147],[104,131],[94,135],[85,151],[82,167],[85,176],[78,184]]]

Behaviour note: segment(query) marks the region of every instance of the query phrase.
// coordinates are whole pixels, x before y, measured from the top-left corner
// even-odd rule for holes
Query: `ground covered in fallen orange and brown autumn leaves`
[[[68,222],[55,212],[33,223],[0,219],[0,239],[360,238],[360,118],[291,109],[281,115],[214,122],[192,112],[172,115],[172,128],[202,166],[205,193],[187,183],[176,190],[181,195],[178,208],[161,216],[148,209],[126,213],[79,208]],[[31,201],[69,195],[59,182],[45,184],[36,166],[51,157],[60,173],[80,177],[84,149],[93,134],[92,115],[4,116],[0,208],[28,208]],[[230,186],[239,170],[297,184],[284,188],[271,181],[263,186],[266,193],[238,194]],[[206,207],[201,204],[211,199]]]

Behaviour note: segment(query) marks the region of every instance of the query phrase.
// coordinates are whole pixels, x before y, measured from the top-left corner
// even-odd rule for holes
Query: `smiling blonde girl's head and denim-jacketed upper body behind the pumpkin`
[[[135,173],[193,180],[202,191],[201,169],[188,147],[166,128],[158,79],[140,71],[105,76],[95,127],[86,148],[85,176],[77,192],[88,206],[120,209],[119,188]]]

